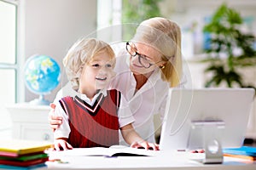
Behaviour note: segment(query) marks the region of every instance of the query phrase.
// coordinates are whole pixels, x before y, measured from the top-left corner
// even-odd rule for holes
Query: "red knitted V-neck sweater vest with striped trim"
[[[74,148],[119,144],[118,108],[121,96],[117,90],[109,90],[107,93],[105,97],[100,94],[93,106],[78,96],[60,100],[71,128],[67,142]]]

